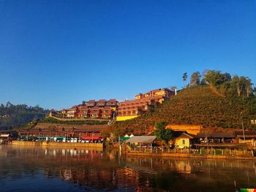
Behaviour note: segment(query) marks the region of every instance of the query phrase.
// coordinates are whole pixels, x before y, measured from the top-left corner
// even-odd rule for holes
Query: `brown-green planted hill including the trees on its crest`
[[[182,80],[187,82],[187,72]],[[177,96],[132,120],[117,122],[106,134],[141,133],[154,123],[200,125],[206,128],[255,128],[256,88],[249,77],[216,70],[192,73],[189,84]]]

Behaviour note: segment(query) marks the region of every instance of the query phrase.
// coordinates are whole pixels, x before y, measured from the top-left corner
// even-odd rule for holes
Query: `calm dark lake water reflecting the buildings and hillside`
[[[235,191],[256,187],[256,161],[134,158],[115,151],[0,145],[0,186],[2,192]]]

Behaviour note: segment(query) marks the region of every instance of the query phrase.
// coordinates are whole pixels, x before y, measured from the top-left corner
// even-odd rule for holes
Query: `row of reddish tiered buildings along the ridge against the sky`
[[[168,88],[159,88],[147,93],[139,93],[134,100],[129,101],[118,102],[116,99],[83,101],[83,104],[75,105],[67,110],[51,111],[50,116],[70,119],[129,120],[143,115],[174,94],[175,91]]]

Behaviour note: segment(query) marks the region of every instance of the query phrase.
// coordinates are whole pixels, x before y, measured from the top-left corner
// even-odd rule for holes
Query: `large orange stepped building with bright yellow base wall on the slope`
[[[154,104],[165,101],[175,94],[168,88],[160,88],[147,93],[139,93],[134,100],[124,101],[118,104],[118,115],[116,120],[128,120],[142,115],[144,112],[154,107]]]

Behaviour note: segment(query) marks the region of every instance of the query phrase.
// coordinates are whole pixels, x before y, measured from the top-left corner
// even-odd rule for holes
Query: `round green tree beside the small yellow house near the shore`
[[[157,128],[155,135],[157,136],[157,139],[165,143],[165,146],[169,146],[168,142],[170,139],[173,139],[173,130],[166,128],[166,126],[167,123],[165,121],[157,122],[155,124],[155,128]]]

